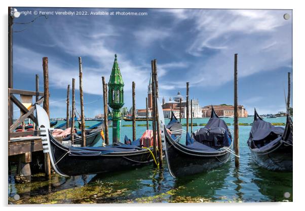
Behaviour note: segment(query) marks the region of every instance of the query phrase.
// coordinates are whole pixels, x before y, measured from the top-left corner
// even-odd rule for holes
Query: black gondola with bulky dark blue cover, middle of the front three
[[[178,140],[179,136],[165,129],[165,154],[170,174],[174,178],[216,168],[233,154],[231,133],[213,107],[207,125],[193,132],[192,137],[186,134],[186,145],[180,144]]]

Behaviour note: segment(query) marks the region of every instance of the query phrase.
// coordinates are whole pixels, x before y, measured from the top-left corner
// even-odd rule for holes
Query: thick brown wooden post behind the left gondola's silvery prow
[[[50,118],[49,110],[49,68],[48,57],[43,57],[43,70],[44,70],[44,110],[47,112]],[[45,153],[45,172],[46,177],[51,179],[51,162],[49,153]]]

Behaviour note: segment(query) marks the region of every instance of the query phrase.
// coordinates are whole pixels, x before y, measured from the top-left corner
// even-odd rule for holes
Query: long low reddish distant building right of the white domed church
[[[213,105],[216,114],[219,117],[234,117],[234,106],[233,105]],[[244,108],[244,105],[238,105],[238,115],[239,117],[248,117],[248,112]],[[206,105],[202,108],[203,117],[211,116],[212,107],[211,105]]]

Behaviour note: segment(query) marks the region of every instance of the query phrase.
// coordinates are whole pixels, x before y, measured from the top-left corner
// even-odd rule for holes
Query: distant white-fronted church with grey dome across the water
[[[186,118],[186,100],[183,98],[181,95],[180,91],[178,91],[177,95],[172,98],[169,98],[169,101],[165,102],[165,99],[163,98],[162,100],[162,108],[163,108],[163,113],[164,117],[165,112],[167,112],[167,109],[172,109],[172,110],[178,110],[179,111],[179,116],[180,116],[180,99],[181,99],[181,118]],[[192,100],[193,108],[190,109],[190,99],[188,100],[188,108],[189,108],[189,115],[188,117],[190,118],[190,115],[193,115],[194,118],[201,118],[202,117],[202,110],[199,105],[199,100],[198,99],[193,99]],[[178,116],[178,117],[179,117]],[[167,118],[167,117],[165,117]],[[169,117],[170,118],[170,117]]]

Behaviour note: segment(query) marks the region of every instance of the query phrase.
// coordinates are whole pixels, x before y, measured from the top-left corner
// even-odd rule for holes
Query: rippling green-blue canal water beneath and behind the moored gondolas
[[[223,118],[234,129],[233,118]],[[265,121],[285,123],[285,117],[265,118]],[[166,123],[169,120],[166,120]],[[253,117],[240,118],[240,123],[252,123]],[[208,118],[193,123],[207,123]],[[96,122],[88,121],[87,125]],[[186,123],[182,119],[182,124]],[[58,123],[60,124],[60,123]],[[121,141],[125,134],[132,137],[132,122],[122,121]],[[145,124],[137,121],[136,125]],[[194,126],[196,130],[203,126]],[[140,137],[145,126],[137,126]],[[184,127],[185,129],[185,127]],[[239,126],[240,168],[234,157],[223,166],[183,179],[172,178],[167,164],[164,169],[144,166],[130,171],[64,178],[54,173],[51,181],[44,174],[34,174],[31,183],[16,184],[15,171],[9,175],[9,203],[152,203],[152,202],[259,202],[292,201],[292,172],[273,172],[258,167],[251,159],[247,139],[251,126]],[[111,137],[111,128],[109,129]],[[101,146],[101,141],[97,143]],[[17,195],[16,195],[17,194]],[[286,197],[285,197],[285,196]]]

